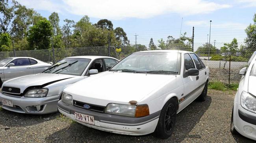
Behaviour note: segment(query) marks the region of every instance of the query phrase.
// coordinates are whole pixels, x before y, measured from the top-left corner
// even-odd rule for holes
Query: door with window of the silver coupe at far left
[[[4,67],[4,80],[33,74],[33,69],[28,58],[15,59],[10,63],[14,63],[14,66],[9,67],[7,65]]]

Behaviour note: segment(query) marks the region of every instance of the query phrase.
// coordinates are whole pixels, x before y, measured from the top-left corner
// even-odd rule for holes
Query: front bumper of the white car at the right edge
[[[247,111],[238,103],[234,104],[234,126],[241,135],[256,140],[256,114]]]

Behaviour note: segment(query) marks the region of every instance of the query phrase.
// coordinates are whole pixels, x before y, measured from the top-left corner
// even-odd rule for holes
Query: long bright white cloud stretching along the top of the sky
[[[208,0],[19,0],[35,10],[60,11],[94,18],[150,18],[161,14],[206,14],[231,5]],[[58,2],[58,3],[57,3]]]

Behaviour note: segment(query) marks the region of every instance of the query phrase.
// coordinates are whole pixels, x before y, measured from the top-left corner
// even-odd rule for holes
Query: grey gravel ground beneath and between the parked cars
[[[24,115],[0,109],[0,143],[14,142],[182,142],[182,143],[253,143],[230,133],[234,92],[209,90],[207,100],[194,101],[177,116],[176,128],[169,139],[125,136],[91,129],[59,118],[59,113]]]

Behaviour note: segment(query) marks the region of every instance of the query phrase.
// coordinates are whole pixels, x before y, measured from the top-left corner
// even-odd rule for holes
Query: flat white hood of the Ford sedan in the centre
[[[155,89],[169,83],[175,75],[102,72],[70,85],[64,92],[73,100],[106,106],[108,103],[140,101]]]

